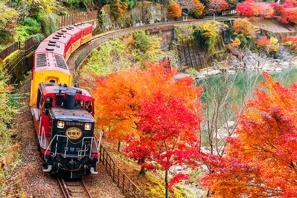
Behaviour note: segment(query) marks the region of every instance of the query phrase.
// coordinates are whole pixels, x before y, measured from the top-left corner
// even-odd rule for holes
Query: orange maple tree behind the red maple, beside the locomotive
[[[200,96],[201,87],[188,85],[185,80],[175,81],[175,69],[163,66],[147,64],[148,69],[114,72],[99,79],[94,90],[98,129],[108,129],[107,135],[119,142],[128,134],[139,133],[142,102],[157,92],[184,98],[186,107],[193,109],[192,102]]]

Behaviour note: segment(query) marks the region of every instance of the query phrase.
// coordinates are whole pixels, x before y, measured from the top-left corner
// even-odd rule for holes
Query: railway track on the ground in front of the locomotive
[[[58,184],[61,187],[63,195],[65,198],[74,198],[74,197],[91,197],[91,193],[85,186],[85,182],[83,179],[77,180],[69,180],[65,181],[65,179],[61,177],[57,177]]]

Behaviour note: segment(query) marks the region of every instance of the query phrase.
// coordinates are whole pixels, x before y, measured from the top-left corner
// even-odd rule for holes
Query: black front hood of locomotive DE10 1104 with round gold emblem
[[[96,173],[98,143],[94,118],[85,110],[52,108],[52,140],[45,153],[47,167],[56,175],[78,178]]]

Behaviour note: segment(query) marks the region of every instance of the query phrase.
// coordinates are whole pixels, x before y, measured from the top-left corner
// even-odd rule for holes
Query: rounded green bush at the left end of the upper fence
[[[45,36],[50,36],[52,32],[56,31],[58,28],[58,15],[56,14],[47,14],[41,17],[41,32]]]

